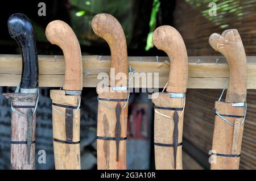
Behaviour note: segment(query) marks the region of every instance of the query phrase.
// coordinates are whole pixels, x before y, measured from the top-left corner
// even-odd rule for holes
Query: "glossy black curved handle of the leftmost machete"
[[[23,14],[13,14],[8,20],[9,33],[22,53],[22,78],[20,88],[38,88],[38,53],[30,20]]]

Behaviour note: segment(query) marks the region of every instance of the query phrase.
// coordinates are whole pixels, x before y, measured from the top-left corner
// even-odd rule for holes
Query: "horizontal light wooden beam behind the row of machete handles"
[[[188,89],[223,89],[229,77],[229,66],[224,57],[188,57]],[[218,60],[218,61],[217,61]],[[129,65],[138,74],[157,78],[153,87],[162,88],[168,81],[168,57],[128,57]],[[217,61],[217,63],[216,63]],[[20,81],[20,55],[0,55],[0,86],[17,86]],[[110,56],[82,56],[83,86],[96,87],[99,73],[108,73]],[[39,86],[61,87],[64,79],[64,56],[39,56]],[[155,75],[154,75],[155,74]],[[247,88],[256,89],[256,56],[247,57]],[[141,74],[142,75],[142,74]],[[155,79],[156,80],[156,79]],[[133,81],[131,87],[150,87],[147,83]]]

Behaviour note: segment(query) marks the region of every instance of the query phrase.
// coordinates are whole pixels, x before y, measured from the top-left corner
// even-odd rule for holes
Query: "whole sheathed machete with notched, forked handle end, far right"
[[[243,126],[246,114],[246,55],[236,29],[213,33],[210,46],[223,54],[229,64],[229,85],[225,102],[215,102],[215,123],[211,169],[239,169]],[[223,94],[223,92],[222,92]]]

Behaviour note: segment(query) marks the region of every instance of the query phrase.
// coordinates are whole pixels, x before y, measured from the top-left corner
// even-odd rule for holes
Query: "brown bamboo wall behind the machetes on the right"
[[[212,2],[212,1],[209,1]],[[188,56],[214,56],[210,34],[230,28],[240,32],[247,56],[256,55],[255,1],[217,1],[217,16],[209,16],[208,1],[176,1],[175,27],[183,36]],[[256,82],[255,82],[256,83]],[[184,115],[184,137],[205,155],[212,148],[214,102],[221,90],[189,89]],[[225,95],[225,94],[224,94]],[[247,91],[247,116],[243,132],[240,169],[256,169],[256,92]]]

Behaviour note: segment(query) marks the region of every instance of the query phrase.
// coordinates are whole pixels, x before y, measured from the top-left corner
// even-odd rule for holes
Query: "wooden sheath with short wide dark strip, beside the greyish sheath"
[[[65,95],[64,90],[51,90],[52,103],[78,106],[80,95]],[[66,108],[52,106],[65,115]],[[52,109],[53,138],[66,140],[65,117]],[[80,110],[73,110],[73,142],[80,141]],[[53,141],[55,169],[80,170],[80,144],[64,144]]]

